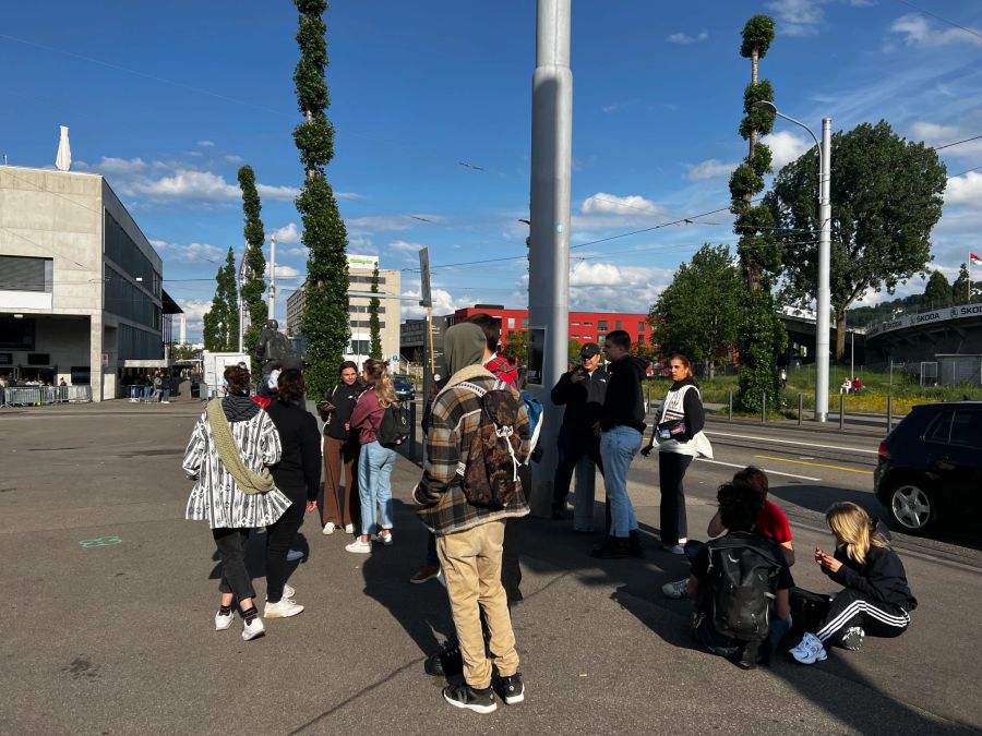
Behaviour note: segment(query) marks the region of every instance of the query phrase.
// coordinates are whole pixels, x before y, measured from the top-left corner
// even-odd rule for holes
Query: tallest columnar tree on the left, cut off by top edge
[[[337,210],[334,190],[324,171],[334,157],[334,128],[325,110],[331,104],[324,70],[326,0],[294,0],[300,11],[297,44],[300,61],[294,72],[303,122],[294,129],[306,178],[297,197],[303,220],[302,242],[310,256],[304,286],[307,306],[301,329],[307,338],[307,387],[310,396],[327,395],[351,333],[348,325],[348,234]]]

